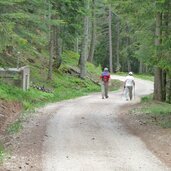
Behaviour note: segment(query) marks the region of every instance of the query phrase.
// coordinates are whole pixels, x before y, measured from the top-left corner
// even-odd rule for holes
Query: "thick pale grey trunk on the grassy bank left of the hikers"
[[[85,0],[85,9],[88,10],[88,1]],[[81,56],[80,56],[80,77],[86,76],[86,61],[87,61],[87,47],[88,47],[88,15],[84,16],[84,35],[82,40]]]

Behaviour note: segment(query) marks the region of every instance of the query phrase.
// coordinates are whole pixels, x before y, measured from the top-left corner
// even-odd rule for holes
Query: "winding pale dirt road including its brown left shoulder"
[[[11,171],[171,170],[119,118],[124,106],[136,104],[138,96],[152,90],[150,81],[137,79],[132,102],[126,102],[122,92],[112,92],[109,99],[93,94],[38,110],[41,115],[26,123],[27,129],[17,137],[21,143],[4,167]]]

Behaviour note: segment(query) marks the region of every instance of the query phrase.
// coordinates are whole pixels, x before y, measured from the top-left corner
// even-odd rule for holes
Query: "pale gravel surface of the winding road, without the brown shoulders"
[[[152,82],[136,79],[136,96],[152,90]],[[109,96],[101,99],[94,94],[71,100],[54,112],[43,144],[43,171],[169,170],[118,119],[121,108],[139,98],[126,102],[122,92]]]

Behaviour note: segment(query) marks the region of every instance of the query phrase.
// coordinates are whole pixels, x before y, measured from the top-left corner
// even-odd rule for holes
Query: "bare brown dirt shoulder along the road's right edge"
[[[171,167],[170,128],[162,128],[154,118],[137,112],[137,109],[142,107],[140,104],[125,106],[120,114],[120,119],[128,131],[140,137],[154,155]]]

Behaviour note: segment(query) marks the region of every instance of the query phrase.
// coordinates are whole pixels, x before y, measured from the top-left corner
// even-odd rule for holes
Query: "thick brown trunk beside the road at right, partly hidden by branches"
[[[159,58],[159,49],[158,47],[161,44],[161,23],[162,23],[162,14],[157,12],[156,14],[156,57]],[[162,69],[156,66],[154,74],[154,100],[162,101]]]

